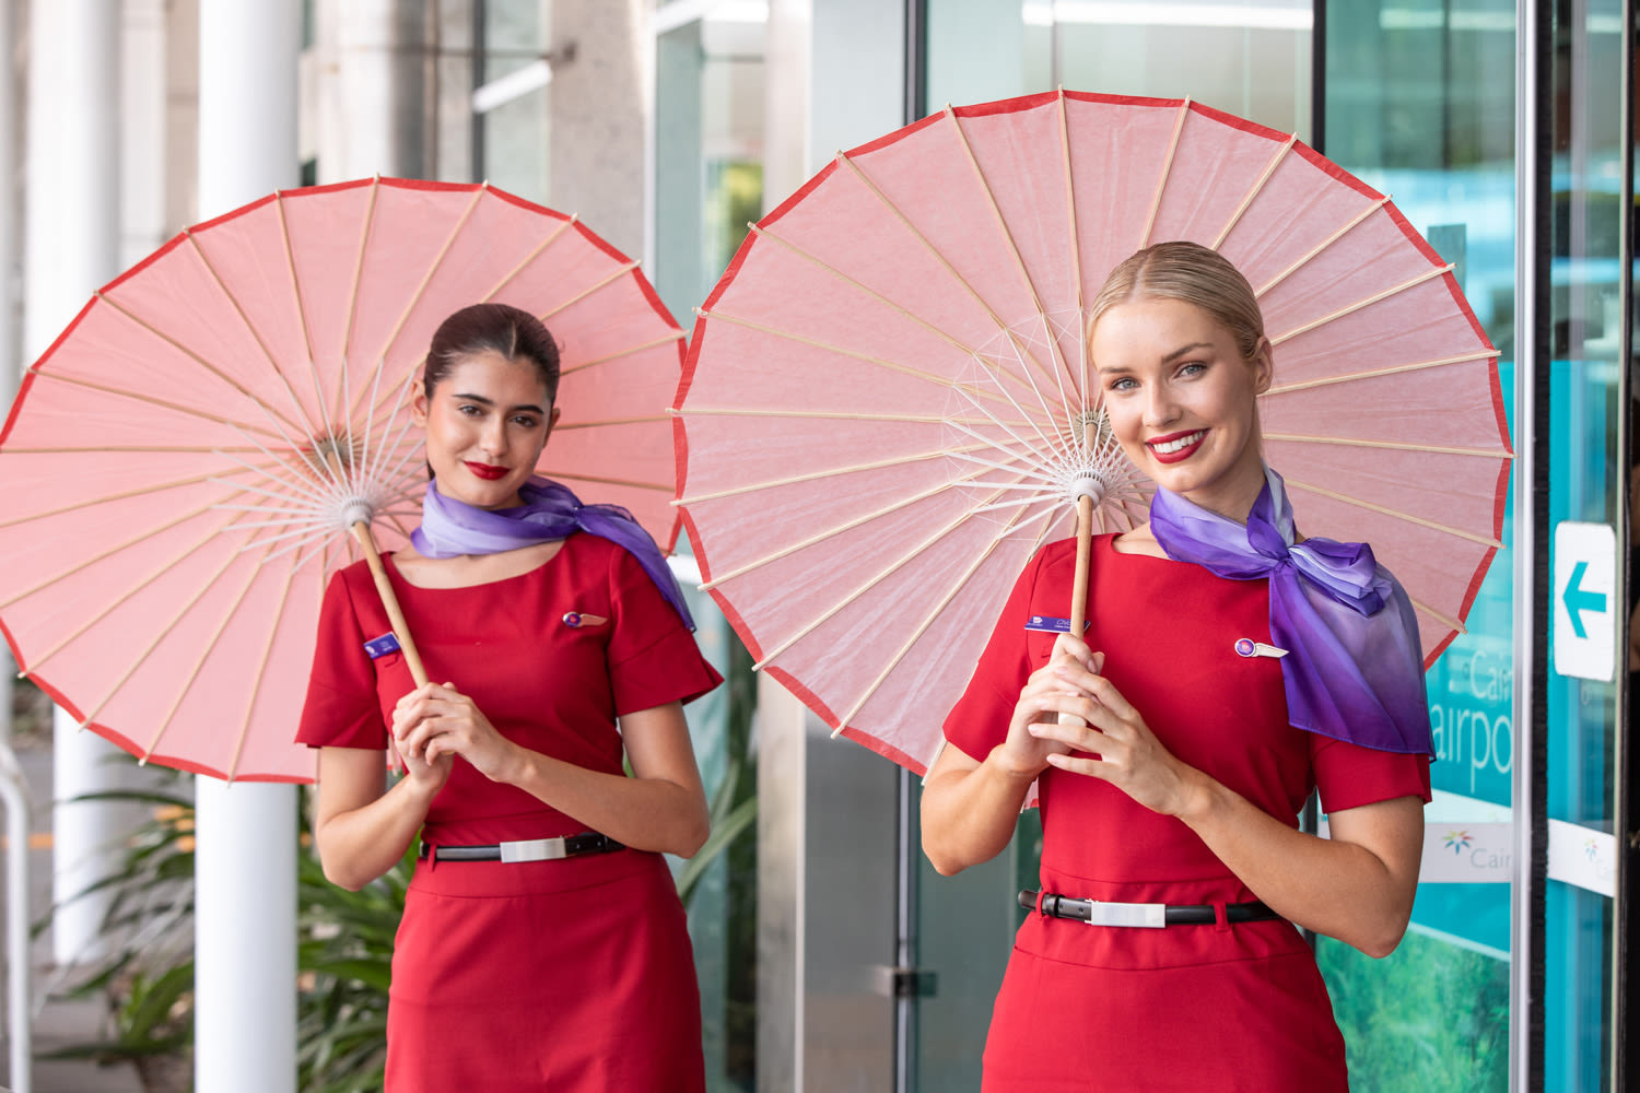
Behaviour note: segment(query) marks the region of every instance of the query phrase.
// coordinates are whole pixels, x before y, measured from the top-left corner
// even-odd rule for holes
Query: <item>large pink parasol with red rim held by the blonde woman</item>
[[[1374,546],[1427,662],[1463,629],[1509,482],[1497,354],[1389,198],[1189,100],[946,108],[838,156],[753,228],[674,403],[705,587],[835,731],[923,772],[1077,498],[1096,526],[1145,518],[1082,306],[1164,239],[1219,249],[1260,295],[1266,456],[1301,531]]]

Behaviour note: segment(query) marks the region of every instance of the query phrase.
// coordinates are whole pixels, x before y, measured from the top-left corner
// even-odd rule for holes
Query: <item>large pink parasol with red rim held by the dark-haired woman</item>
[[[682,331],[576,218],[489,185],[274,193],[98,292],[0,431],[0,628],[18,665],[126,751],[302,782],[292,742],[320,596],[418,523],[408,397],[482,300],[540,315],[564,416],[540,472],[625,505],[669,549]],[[356,533],[358,534],[358,533]]]

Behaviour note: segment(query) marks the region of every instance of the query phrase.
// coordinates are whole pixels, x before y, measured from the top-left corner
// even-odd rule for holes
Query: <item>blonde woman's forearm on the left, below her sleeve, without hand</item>
[[[1014,837],[1035,773],[1010,770],[1000,751],[979,765],[938,770],[923,787],[923,854],[945,877],[989,862]]]

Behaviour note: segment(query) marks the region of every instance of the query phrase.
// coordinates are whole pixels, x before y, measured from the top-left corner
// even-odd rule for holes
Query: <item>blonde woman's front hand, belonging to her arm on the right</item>
[[[1200,782],[1200,772],[1163,747],[1138,710],[1102,675],[1084,664],[1061,659],[1053,672],[1081,692],[1073,710],[1087,724],[1030,726],[1040,739],[1059,741],[1092,755],[1048,755],[1059,770],[1109,782],[1130,798],[1164,816],[1184,814]]]

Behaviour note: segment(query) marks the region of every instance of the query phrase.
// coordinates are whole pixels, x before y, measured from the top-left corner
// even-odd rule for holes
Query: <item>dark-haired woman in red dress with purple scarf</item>
[[[384,560],[438,682],[410,678],[362,564],[325,593],[297,736],[320,749],[325,875],[361,888],[421,841],[389,1093],[705,1085],[661,852],[707,837],[681,703],[722,680],[653,539],[535,477],[556,393],[526,311],[469,306],[433,336],[412,405],[423,523]],[[389,744],[405,773],[385,787]]]

